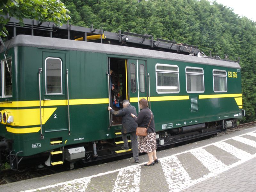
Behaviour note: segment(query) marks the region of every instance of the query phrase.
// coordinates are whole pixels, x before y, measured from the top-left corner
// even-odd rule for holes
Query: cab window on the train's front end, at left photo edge
[[[7,61],[7,62],[6,62]],[[12,59],[2,60],[2,95],[12,97]]]

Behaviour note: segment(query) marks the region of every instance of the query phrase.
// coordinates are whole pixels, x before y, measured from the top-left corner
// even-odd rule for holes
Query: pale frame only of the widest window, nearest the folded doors
[[[157,66],[175,67],[175,68],[177,68],[177,71],[157,69]],[[179,93],[180,92],[180,72],[179,72],[179,66],[178,65],[156,63],[155,69],[156,69],[156,92],[158,94]],[[175,91],[175,92],[173,92],[173,91],[171,91],[171,92],[158,92],[157,87],[163,87],[163,86],[157,86],[157,73],[178,74],[178,91]],[[168,87],[168,86],[164,86],[164,87]]]

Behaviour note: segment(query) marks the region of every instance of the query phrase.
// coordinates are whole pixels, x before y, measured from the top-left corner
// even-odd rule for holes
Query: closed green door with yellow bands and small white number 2
[[[43,52],[44,132],[68,130],[65,53]]]

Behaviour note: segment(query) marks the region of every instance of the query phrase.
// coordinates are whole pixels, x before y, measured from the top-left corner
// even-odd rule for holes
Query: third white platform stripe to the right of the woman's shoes
[[[243,151],[239,148],[234,147],[233,145],[230,145],[228,143],[225,143],[223,141],[220,141],[218,143],[214,143],[214,146],[227,151],[228,153],[232,154],[233,156],[237,157],[238,159],[241,160],[247,160],[252,157],[250,153],[247,153],[246,151]]]

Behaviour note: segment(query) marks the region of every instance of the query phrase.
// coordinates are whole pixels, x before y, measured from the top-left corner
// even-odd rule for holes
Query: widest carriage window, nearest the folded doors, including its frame
[[[156,64],[156,92],[178,93],[179,68],[176,65]]]

